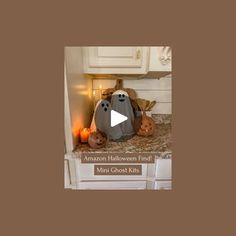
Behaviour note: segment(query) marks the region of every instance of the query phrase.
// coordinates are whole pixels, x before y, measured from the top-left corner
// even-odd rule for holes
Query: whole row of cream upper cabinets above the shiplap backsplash
[[[83,59],[84,73],[88,74],[146,74],[171,69],[169,47],[84,47]]]

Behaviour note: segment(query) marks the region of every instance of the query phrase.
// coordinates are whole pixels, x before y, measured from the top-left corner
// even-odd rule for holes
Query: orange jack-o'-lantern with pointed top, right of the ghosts
[[[137,134],[141,136],[150,136],[153,135],[154,131],[155,122],[151,117],[147,116],[144,111],[142,115],[141,125]]]

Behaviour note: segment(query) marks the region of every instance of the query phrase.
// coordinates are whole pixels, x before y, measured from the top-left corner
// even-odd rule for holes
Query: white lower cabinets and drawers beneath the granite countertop
[[[81,163],[76,153],[66,154],[64,163],[65,188],[172,189],[171,158],[156,159],[154,164],[141,164],[141,175],[94,175],[94,164]]]

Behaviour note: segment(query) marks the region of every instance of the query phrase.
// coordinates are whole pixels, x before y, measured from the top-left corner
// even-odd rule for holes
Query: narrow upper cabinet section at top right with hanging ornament
[[[170,47],[150,47],[148,71],[172,70],[172,53]]]

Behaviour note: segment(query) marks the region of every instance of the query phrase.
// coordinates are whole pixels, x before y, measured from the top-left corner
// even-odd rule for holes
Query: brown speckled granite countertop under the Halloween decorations
[[[107,146],[100,149],[92,149],[88,144],[79,143],[76,152],[155,152],[161,154],[171,153],[171,118],[170,116],[153,117],[156,129],[153,136],[133,136],[123,142],[109,141]]]

